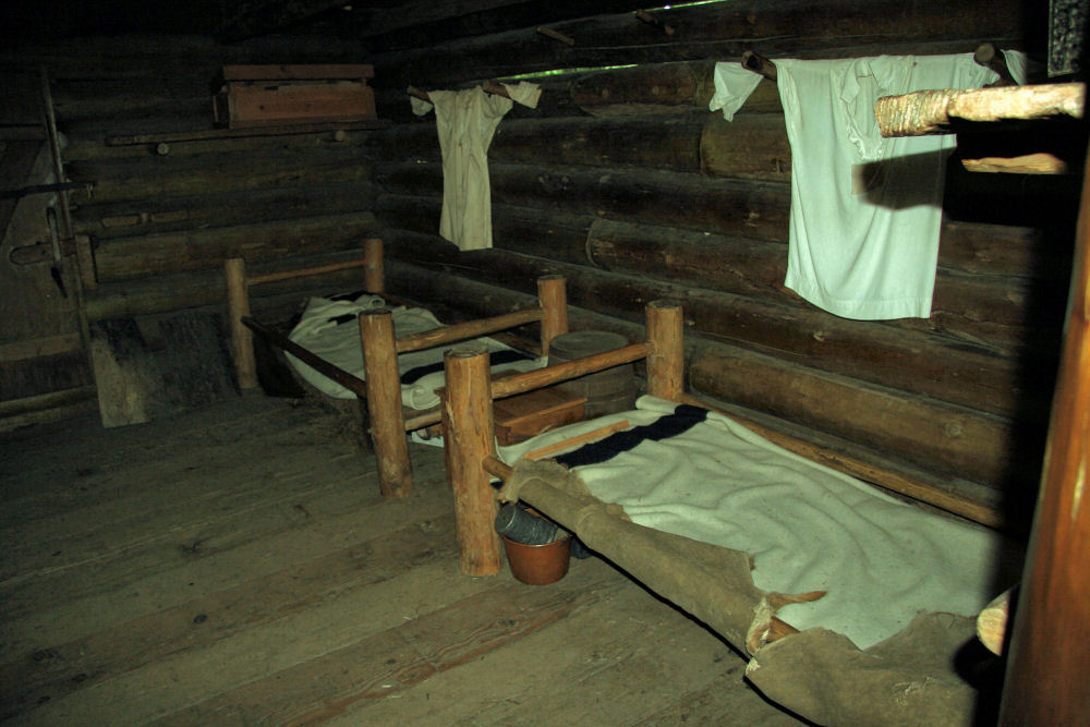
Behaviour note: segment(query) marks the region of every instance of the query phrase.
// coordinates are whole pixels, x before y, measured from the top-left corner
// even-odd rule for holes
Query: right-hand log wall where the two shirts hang
[[[1077,185],[952,166],[931,318],[847,320],[783,287],[790,148],[775,86],[762,82],[734,123],[707,111],[714,62],[747,49],[1036,48],[1019,2],[935,5],[697,5],[656,11],[673,35],[617,13],[550,26],[570,46],[526,28],[375,56],[379,116],[399,122],[371,137],[375,211],[391,257],[405,263],[389,267],[395,287],[479,315],[482,283],[505,291],[487,298],[495,304],[562,272],[569,300],[596,314],[584,320],[618,330],[647,300],[680,300],[693,392],[931,486],[1028,510]],[[540,108],[516,107],[489,149],[495,249],[456,253],[436,234],[434,121],[409,113],[404,87],[588,68],[600,70],[532,78]]]

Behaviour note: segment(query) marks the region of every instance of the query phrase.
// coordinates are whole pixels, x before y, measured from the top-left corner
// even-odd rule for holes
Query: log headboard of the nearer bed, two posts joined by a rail
[[[483,348],[458,348],[446,352],[443,426],[446,433],[447,478],[455,493],[455,522],[462,572],[474,577],[493,575],[500,568],[499,536],[493,524],[497,506],[489,478],[491,474],[504,474],[507,469],[496,458],[493,399],[641,358],[647,360],[647,392],[663,398],[680,397],[685,365],[681,306],[654,301],[647,304],[646,316],[645,342],[496,380],[488,376],[488,354]]]

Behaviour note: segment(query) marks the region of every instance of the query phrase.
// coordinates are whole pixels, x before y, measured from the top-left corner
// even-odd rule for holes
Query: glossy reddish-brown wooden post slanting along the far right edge
[[[1087,156],[1090,162],[1090,155]],[[1083,172],[1063,356],[1013,628],[1001,725],[1090,722],[1090,174]]]

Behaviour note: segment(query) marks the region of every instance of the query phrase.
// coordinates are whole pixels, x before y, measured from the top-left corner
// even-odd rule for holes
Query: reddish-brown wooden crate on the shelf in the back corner
[[[228,129],[374,119],[374,75],[367,64],[225,65],[213,113]]]

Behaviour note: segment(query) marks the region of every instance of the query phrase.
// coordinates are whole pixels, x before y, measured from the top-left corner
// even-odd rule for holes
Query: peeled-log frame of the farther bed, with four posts
[[[355,267],[363,268],[364,289],[367,292],[397,303],[412,305],[411,302],[386,292],[383,241],[378,238],[364,240],[362,258],[316,267],[247,276],[245,260],[242,258],[237,257],[225,262],[231,351],[239,387],[249,389],[257,386],[256,360],[251,332],[253,331],[272,346],[291,353],[315,371],[349,389],[361,402],[366,402],[367,405],[367,420],[378,463],[379,487],[383,495],[385,497],[408,497],[412,494],[413,484],[405,434],[439,423],[441,415],[439,408],[419,411],[407,410],[402,407],[398,354],[434,349],[516,326],[540,323],[542,355],[547,355],[549,341],[568,330],[566,280],[562,276],[538,278],[537,305],[535,307],[468,320],[401,338],[395,337],[390,308],[367,311],[360,316],[364,379],[315,355],[279,331],[262,325],[250,315],[249,291],[252,286]],[[368,386],[368,381],[371,386]],[[489,411],[491,420],[492,412]]]

